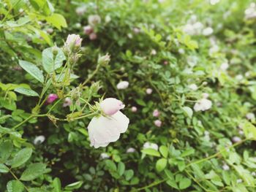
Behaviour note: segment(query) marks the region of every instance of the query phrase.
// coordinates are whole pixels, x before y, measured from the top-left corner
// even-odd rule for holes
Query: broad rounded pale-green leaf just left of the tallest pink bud
[[[42,66],[48,74],[53,72],[53,69],[59,69],[62,66],[62,62],[66,59],[59,47],[54,48],[58,51],[55,59],[53,59],[53,47],[49,47],[42,51]]]

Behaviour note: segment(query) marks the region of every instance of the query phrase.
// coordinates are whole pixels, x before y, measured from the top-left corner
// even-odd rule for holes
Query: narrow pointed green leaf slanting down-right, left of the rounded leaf
[[[31,64],[28,61],[22,61],[19,60],[19,65],[29,74],[31,74],[32,77],[34,77],[39,82],[44,82],[44,76],[42,75],[42,72],[40,69],[35,66],[34,64]]]

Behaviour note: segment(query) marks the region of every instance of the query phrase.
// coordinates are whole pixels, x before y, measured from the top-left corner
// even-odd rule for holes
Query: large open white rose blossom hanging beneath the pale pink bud
[[[91,146],[106,147],[110,142],[116,142],[120,134],[127,131],[128,124],[129,118],[120,111],[108,117],[95,116],[88,126]]]

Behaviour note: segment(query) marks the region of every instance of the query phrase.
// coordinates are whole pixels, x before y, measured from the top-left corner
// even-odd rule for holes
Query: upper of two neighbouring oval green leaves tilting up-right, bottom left
[[[21,166],[22,164],[25,164],[26,161],[29,160],[29,158],[32,155],[32,149],[31,148],[24,148],[22,150],[20,150],[15,156],[14,158],[10,161],[10,165],[12,166],[12,168]]]

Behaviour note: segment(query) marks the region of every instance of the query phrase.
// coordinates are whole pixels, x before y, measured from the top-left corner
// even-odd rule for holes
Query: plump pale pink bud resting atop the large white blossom
[[[102,109],[105,115],[114,115],[119,110],[124,109],[125,105],[118,99],[107,98],[99,104],[99,107]]]

